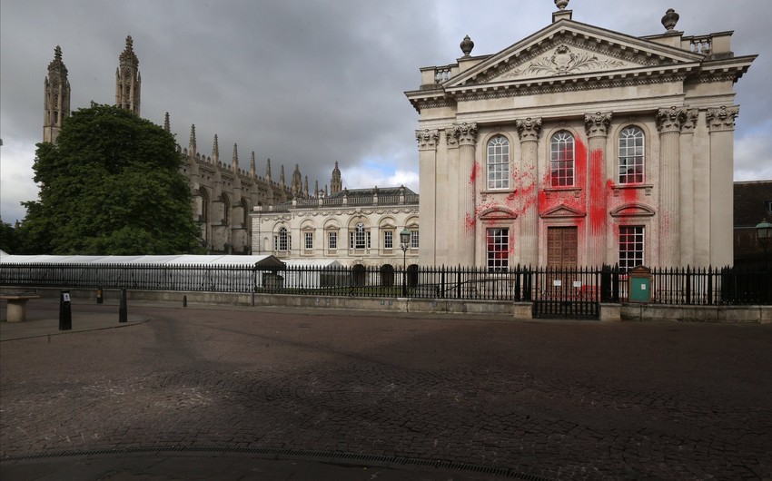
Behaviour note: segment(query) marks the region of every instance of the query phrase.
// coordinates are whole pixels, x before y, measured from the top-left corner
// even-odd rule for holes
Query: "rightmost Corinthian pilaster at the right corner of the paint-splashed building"
[[[735,117],[738,107],[708,109],[710,135],[710,264],[734,263],[733,192],[735,162]]]

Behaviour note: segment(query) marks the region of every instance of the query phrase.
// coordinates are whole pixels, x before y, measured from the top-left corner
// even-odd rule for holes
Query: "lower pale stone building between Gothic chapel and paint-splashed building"
[[[392,268],[416,263],[419,196],[401,187],[342,189],[338,162],[329,195],[293,199],[252,211],[252,253],[282,260],[337,260],[341,265]],[[411,232],[406,250],[400,232]]]

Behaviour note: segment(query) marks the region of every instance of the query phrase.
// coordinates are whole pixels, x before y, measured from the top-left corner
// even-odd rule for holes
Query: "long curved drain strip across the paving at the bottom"
[[[440,461],[436,459],[421,459],[416,457],[381,456],[361,453],[345,453],[334,451],[313,451],[306,449],[289,449],[275,447],[211,447],[211,446],[159,446],[159,447],[114,447],[103,449],[91,449],[84,451],[54,451],[26,456],[5,456],[0,462],[27,461],[45,459],[51,457],[73,456],[104,456],[125,455],[143,453],[237,453],[244,455],[272,456],[277,458],[293,457],[317,461],[366,461],[371,463],[403,465],[403,466],[431,466],[438,469],[453,469],[494,476],[506,476],[521,481],[553,481],[548,477],[518,473],[509,467],[468,465],[465,463]]]

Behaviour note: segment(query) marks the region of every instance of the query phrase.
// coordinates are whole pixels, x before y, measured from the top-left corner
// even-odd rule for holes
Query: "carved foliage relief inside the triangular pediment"
[[[610,70],[626,67],[628,64],[610,57],[602,57],[587,51],[572,50],[568,45],[561,44],[551,54],[541,56],[529,64],[521,65],[501,77],[502,80],[512,80],[521,77],[541,77],[548,75],[581,74],[591,70]]]

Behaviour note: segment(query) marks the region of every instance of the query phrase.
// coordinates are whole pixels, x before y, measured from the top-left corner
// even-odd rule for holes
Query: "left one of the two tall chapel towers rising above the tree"
[[[48,64],[43,97],[43,142],[56,142],[62,121],[70,116],[70,81],[62,62],[62,48],[54,48],[54,60]]]

